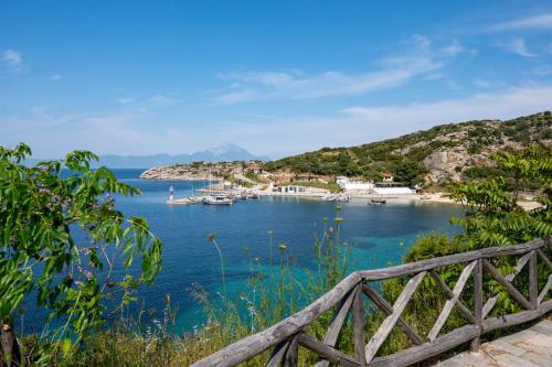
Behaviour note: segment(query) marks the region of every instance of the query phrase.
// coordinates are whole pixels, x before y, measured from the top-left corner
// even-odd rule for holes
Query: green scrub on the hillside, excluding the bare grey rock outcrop
[[[264,169],[317,175],[364,176],[375,181],[381,180],[381,173],[390,172],[395,181],[413,185],[424,182],[427,170],[423,161],[438,149],[464,145],[469,154],[479,154],[490,145],[502,145],[507,140],[524,145],[540,143],[550,139],[551,122],[550,114],[543,112],[502,123],[468,121],[442,125],[427,131],[352,148],[322,148],[267,162]],[[459,133],[461,131],[467,131],[467,136]]]

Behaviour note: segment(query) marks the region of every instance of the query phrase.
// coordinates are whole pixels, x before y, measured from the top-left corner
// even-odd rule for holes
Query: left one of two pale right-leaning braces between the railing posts
[[[365,348],[368,363],[372,360],[374,355],[378,353],[378,349],[380,349],[383,342],[385,342],[385,338],[391,333],[391,330],[393,328],[396,321],[399,320],[404,309],[406,307],[406,303],[408,303],[410,299],[412,298],[412,294],[414,294],[417,287],[420,285],[420,282],[424,279],[425,274],[426,272],[422,271],[421,273],[414,276],[411,280],[408,280],[403,291],[396,299],[395,304],[393,305],[393,313],[383,321],[378,332],[375,332],[370,342],[368,342]]]

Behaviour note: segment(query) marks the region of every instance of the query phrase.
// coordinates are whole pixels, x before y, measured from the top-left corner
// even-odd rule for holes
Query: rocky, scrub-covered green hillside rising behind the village
[[[408,184],[443,183],[473,175],[497,150],[530,143],[550,147],[550,111],[508,121],[477,120],[436,126],[400,138],[351,148],[322,148],[315,152],[267,162],[269,172],[363,176],[381,180],[390,172]]]

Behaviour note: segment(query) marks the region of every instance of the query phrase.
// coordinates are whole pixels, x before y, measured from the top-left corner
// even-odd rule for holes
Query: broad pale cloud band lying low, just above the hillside
[[[331,116],[226,123],[223,129],[213,130],[211,137],[215,140],[224,137],[246,144],[257,154],[278,158],[322,147],[350,147],[395,138],[436,125],[510,119],[551,108],[552,85],[544,85],[425,104],[352,107]]]

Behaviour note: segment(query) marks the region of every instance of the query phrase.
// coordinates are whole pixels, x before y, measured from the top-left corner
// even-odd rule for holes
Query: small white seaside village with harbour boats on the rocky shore
[[[395,182],[392,173],[382,172],[379,182],[359,177],[321,176],[293,172],[266,172],[259,161],[232,163],[191,163],[145,171],[146,180],[204,182],[192,196],[179,197],[170,186],[168,204],[231,205],[237,199],[259,196],[299,197],[328,202],[367,201],[381,205],[389,199],[434,199],[421,194],[421,186]],[[440,196],[440,195],[439,195]]]

